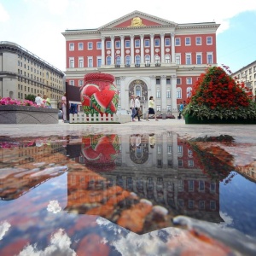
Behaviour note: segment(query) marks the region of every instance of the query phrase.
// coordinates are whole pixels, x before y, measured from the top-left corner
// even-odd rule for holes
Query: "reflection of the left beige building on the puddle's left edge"
[[[67,159],[62,143],[19,143],[15,148],[0,148],[0,199],[13,200],[38,184],[67,171],[67,166],[55,166]],[[50,165],[49,165],[50,164]]]

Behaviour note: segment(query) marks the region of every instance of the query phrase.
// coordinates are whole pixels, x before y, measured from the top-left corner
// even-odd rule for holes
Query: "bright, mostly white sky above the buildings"
[[[134,10],[176,23],[214,20],[220,24],[218,66],[224,64],[236,72],[256,61],[255,0],[0,0],[0,41],[20,44],[65,71],[65,38],[61,32],[97,28]]]

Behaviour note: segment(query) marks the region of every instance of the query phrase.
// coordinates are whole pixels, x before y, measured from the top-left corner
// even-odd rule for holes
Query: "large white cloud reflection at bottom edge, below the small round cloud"
[[[51,236],[50,245],[39,251],[36,245],[26,246],[20,253],[19,256],[52,256],[52,255],[65,255],[65,256],[76,256],[77,253],[70,248],[71,240],[67,236],[64,230],[58,230]]]

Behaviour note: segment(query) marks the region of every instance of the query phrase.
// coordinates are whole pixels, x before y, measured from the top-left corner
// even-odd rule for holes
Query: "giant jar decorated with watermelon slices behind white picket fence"
[[[80,97],[84,113],[116,113],[119,92],[113,84],[114,77],[108,73],[88,73]]]

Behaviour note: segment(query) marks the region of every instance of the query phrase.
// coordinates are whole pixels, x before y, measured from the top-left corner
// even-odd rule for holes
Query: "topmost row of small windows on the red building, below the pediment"
[[[150,47],[150,39],[144,39],[144,47]],[[175,46],[181,46],[181,38],[175,38]],[[207,45],[212,45],[212,37],[207,37]],[[191,45],[191,38],[184,38],[184,45],[190,46]],[[202,45],[201,37],[195,38],[195,45]],[[84,50],[84,43],[79,43],[79,50]],[[165,38],[165,46],[171,46],[171,39]],[[106,49],[111,49],[111,41],[105,42]],[[134,40],[134,47],[140,48],[141,47],[141,39]],[[160,47],[160,38],[154,38],[154,47]],[[121,48],[121,41],[115,40],[114,41],[114,48],[120,49]],[[125,48],[131,48],[131,40],[125,40]],[[75,44],[69,43],[69,50],[74,50]],[[93,42],[87,42],[87,49],[93,49]],[[96,42],[96,49],[102,49],[102,42]]]

